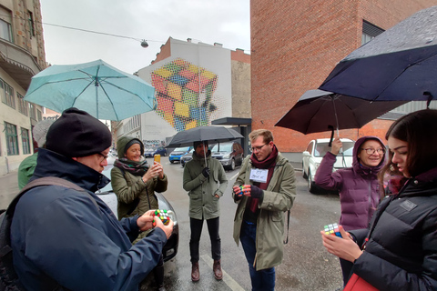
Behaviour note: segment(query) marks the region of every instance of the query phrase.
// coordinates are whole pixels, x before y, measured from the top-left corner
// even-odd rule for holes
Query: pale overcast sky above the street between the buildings
[[[46,61],[102,59],[127,73],[150,65],[171,36],[249,54],[249,0],[40,0]],[[109,35],[88,33],[76,29]],[[122,35],[130,38],[110,35]],[[140,45],[147,40],[148,47]]]

